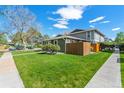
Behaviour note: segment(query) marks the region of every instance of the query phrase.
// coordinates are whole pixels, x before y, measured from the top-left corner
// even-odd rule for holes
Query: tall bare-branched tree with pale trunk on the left
[[[24,32],[26,32],[35,21],[35,15],[23,6],[10,6],[4,10],[4,15],[10,22],[11,28],[19,32],[20,42],[26,48]]]

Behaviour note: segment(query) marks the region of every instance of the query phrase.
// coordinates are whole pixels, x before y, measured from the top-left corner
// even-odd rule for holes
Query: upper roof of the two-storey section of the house
[[[88,30],[75,29],[72,32],[70,32],[69,34],[85,33],[88,31],[96,31],[100,35],[105,36],[103,33],[101,33],[98,29],[95,29],[95,28],[94,29],[88,29]]]

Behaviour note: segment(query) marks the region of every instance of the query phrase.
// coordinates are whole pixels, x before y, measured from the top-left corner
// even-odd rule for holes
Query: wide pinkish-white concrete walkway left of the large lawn
[[[23,88],[12,54],[6,52],[0,58],[0,88]]]

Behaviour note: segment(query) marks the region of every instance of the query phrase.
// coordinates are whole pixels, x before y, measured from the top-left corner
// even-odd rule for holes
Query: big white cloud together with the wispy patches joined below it
[[[60,18],[54,19],[48,17],[48,19],[57,22],[53,25],[54,27],[66,29],[68,28],[69,20],[79,20],[83,17],[85,8],[86,6],[65,6],[53,12],[53,14],[60,15]]]

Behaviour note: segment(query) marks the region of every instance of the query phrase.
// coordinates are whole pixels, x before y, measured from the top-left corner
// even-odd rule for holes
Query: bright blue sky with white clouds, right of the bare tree
[[[41,32],[50,36],[74,29],[97,28],[108,38],[124,32],[124,6],[24,6],[36,15]]]

